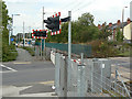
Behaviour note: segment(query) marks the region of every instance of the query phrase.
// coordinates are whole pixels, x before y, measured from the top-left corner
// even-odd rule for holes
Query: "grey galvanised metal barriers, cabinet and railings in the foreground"
[[[130,97],[124,85],[111,79],[109,59],[85,59],[84,64],[72,59],[68,86],[67,57],[55,52],[52,54],[55,56],[51,59],[55,63],[55,92],[58,97]]]

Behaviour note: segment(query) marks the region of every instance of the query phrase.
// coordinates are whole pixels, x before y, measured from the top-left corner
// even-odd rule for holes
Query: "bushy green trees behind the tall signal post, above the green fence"
[[[72,22],[72,42],[86,43],[98,38],[99,30],[94,24],[94,15],[84,13],[77,21]],[[48,34],[47,42],[67,43],[68,42],[68,23],[62,23],[62,32],[59,35],[51,36]]]

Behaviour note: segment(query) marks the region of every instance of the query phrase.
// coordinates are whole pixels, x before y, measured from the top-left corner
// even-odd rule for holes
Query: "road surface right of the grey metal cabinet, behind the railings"
[[[121,76],[121,78],[118,77],[119,80],[123,80],[124,82],[130,82],[132,80],[131,78],[131,61],[130,57],[111,57],[111,76],[116,77],[116,68],[118,68],[118,72]]]

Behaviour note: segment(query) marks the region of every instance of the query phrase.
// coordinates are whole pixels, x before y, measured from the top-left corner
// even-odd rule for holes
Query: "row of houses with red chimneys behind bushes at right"
[[[98,29],[101,30],[103,25],[105,24],[98,24]],[[117,40],[117,29],[120,29],[121,32],[123,31],[124,42],[130,42],[132,40],[132,21],[129,18],[127,22],[123,23],[121,23],[120,20],[118,20],[117,23],[113,24],[109,23],[108,31],[112,33],[112,35],[108,37],[109,41]]]

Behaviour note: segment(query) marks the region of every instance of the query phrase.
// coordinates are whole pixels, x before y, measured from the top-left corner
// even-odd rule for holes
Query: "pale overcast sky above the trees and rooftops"
[[[44,19],[61,12],[61,18],[66,18],[72,10],[72,20],[77,20],[85,12],[90,12],[95,16],[95,24],[103,22],[116,23],[122,20],[122,9],[124,9],[124,21],[130,18],[130,2],[132,0],[3,0],[9,10],[9,15],[14,16],[14,32],[23,32],[23,21],[25,32],[42,29],[42,12],[45,11]],[[30,28],[31,26],[31,28]]]

